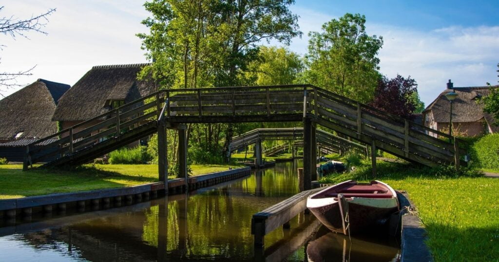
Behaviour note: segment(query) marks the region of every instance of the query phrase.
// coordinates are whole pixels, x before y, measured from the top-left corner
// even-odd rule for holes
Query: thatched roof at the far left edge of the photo
[[[57,132],[52,115],[69,85],[38,79],[0,100],[0,137],[44,137]],[[22,132],[22,134],[20,134]]]

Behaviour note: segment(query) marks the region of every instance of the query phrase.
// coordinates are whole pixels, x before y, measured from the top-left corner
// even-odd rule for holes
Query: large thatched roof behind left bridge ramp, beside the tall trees
[[[139,81],[147,64],[94,66],[60,99],[52,120],[83,121],[111,110],[110,101],[129,103],[156,91],[154,81]]]

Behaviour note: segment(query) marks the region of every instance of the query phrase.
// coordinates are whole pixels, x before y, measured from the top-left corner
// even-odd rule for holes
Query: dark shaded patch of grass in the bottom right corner
[[[499,227],[458,228],[428,223],[426,244],[435,261],[499,261]]]

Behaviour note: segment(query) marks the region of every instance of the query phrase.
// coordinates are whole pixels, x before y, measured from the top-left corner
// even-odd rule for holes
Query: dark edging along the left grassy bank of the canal
[[[188,178],[189,190],[195,190],[206,186],[215,185],[221,182],[236,179],[250,174],[250,167],[229,169],[205,175]],[[52,209],[65,210],[66,204],[85,208],[85,205],[92,206],[109,205],[111,201],[121,203],[123,199],[127,203],[141,202],[142,199],[156,198],[158,191],[163,190],[163,182],[147,183],[136,186],[99,189],[91,191],[56,193],[41,196],[30,196],[16,199],[0,200],[0,217],[12,219],[18,215],[31,215],[33,209],[37,212],[51,212]],[[169,194],[178,194],[186,191],[184,178],[168,180]]]

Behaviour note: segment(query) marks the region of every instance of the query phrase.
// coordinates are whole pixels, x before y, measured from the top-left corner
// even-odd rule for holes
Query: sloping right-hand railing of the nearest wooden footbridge
[[[315,117],[319,124],[358,140],[375,139],[380,148],[398,156],[418,160],[418,156],[433,162],[452,163],[466,153],[464,140],[382,112],[332,92],[316,89]],[[434,137],[436,134],[454,143]],[[367,139],[366,139],[367,138]],[[418,159],[417,159],[418,158]],[[421,159],[419,159],[421,160]],[[459,161],[459,160],[458,160]]]

